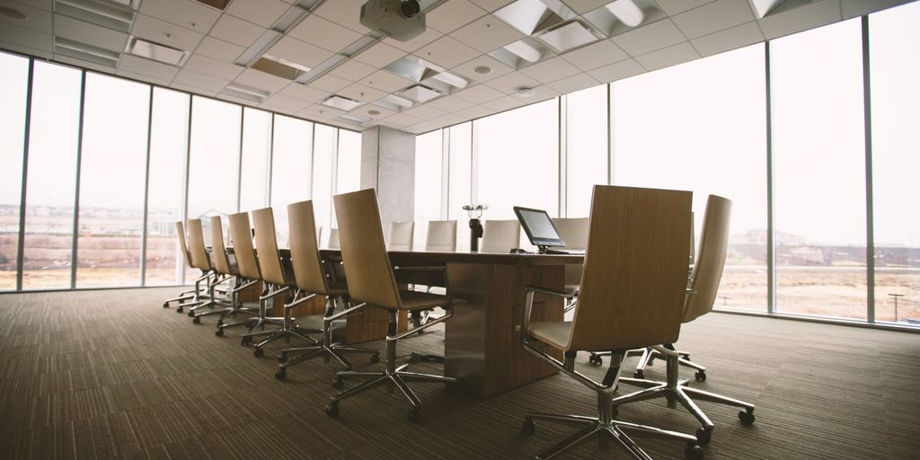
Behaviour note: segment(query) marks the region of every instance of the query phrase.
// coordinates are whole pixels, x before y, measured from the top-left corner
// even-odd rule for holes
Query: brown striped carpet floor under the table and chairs
[[[592,392],[556,375],[487,400],[413,385],[420,423],[385,389],[343,401],[330,419],[323,406],[338,367],[308,362],[279,382],[282,344],[255,358],[239,345],[241,329],[218,339],[213,316],[193,325],[161,308],[174,291],[0,295],[0,458],[523,459],[575,431],[544,423],[523,436],[523,412],[593,411]],[[713,314],[682,338],[708,366],[707,382],[692,385],[757,405],[747,427],[735,408],[700,404],[716,423],[707,459],[920,458],[920,335]],[[441,339],[408,339],[399,352],[440,351]],[[603,372],[586,356],[578,367]],[[647,375],[662,371],[660,362]],[[663,400],[620,416],[696,430]],[[683,454],[679,443],[637,441],[653,458]],[[563,458],[628,456],[587,443]]]

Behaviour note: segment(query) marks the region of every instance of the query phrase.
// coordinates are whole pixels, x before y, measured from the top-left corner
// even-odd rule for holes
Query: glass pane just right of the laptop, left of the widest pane
[[[566,214],[587,217],[594,185],[607,183],[607,86],[582,89],[566,98]]]

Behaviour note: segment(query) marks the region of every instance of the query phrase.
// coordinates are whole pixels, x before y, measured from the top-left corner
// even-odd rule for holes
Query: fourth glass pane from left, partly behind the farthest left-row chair
[[[189,152],[189,95],[154,88],[147,191],[147,286],[177,284],[182,260],[176,222],[182,220]],[[189,270],[191,271],[191,270]]]

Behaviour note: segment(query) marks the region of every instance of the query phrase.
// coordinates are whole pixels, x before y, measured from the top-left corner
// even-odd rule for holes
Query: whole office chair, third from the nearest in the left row
[[[282,295],[290,293],[292,287],[296,289],[297,284],[294,281],[294,274],[291,267],[287,264],[282,267],[281,253],[278,251],[278,240],[277,236],[275,236],[275,216],[271,208],[262,208],[253,211],[252,221],[256,230],[256,250],[259,253],[259,270],[261,270],[262,273],[262,282],[265,282],[267,287],[267,293],[264,293],[259,299],[259,321],[261,321],[262,324],[267,320],[280,321],[282,327],[277,330],[247,332],[243,334],[243,345],[247,345],[247,343],[255,337],[269,335],[268,338],[262,339],[253,347],[252,353],[256,355],[256,357],[262,356],[264,352],[262,351],[263,346],[277,339],[296,338],[316,345],[318,342],[307,337],[305,334],[318,333],[321,331],[298,327],[291,316],[293,304],[282,305],[283,316],[266,316],[265,301],[272,299],[271,313],[272,315],[277,315],[278,309],[275,305],[278,305],[278,299],[281,298]],[[313,237],[313,235],[315,234],[311,233],[310,237]]]

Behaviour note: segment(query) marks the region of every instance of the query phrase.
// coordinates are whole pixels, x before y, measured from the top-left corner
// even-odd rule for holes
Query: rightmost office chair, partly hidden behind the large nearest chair
[[[716,293],[719,291],[719,281],[722,278],[722,269],[725,266],[725,256],[729,246],[730,213],[730,200],[716,195],[709,195],[706,214],[703,217],[700,248],[697,253],[690,288],[679,302],[682,312],[681,320],[684,323],[706,315],[712,310],[712,305],[716,301]],[[654,382],[643,379],[620,379],[625,384],[638,385],[645,389],[615,398],[613,401],[614,408],[652,397],[667,397],[668,406],[671,408],[676,406],[675,402],[680,402],[703,425],[696,431],[696,439],[703,444],[709,442],[715,426],[703,410],[696,406],[693,400],[694,397],[704,401],[742,408],[742,411],[738,413],[738,418],[744,424],[750,425],[753,423],[753,404],[685,386],[684,382],[678,378],[680,354],[674,350],[672,345],[674,340],[665,340],[663,343],[665,345],[654,345],[651,348],[664,356],[664,360],[667,362],[667,380],[665,382]]]

